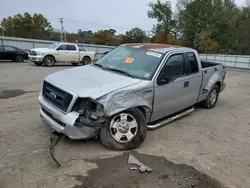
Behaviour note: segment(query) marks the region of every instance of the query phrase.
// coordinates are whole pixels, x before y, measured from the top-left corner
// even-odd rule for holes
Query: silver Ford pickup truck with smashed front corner
[[[225,88],[222,64],[166,44],[123,44],[95,64],[44,79],[41,118],[71,139],[100,138],[112,150],[138,147],[156,129],[194,110],[213,108]]]

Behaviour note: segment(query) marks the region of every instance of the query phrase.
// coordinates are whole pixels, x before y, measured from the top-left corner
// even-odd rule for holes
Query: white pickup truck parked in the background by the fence
[[[74,43],[57,42],[47,48],[30,50],[29,59],[36,65],[54,66],[57,62],[71,62],[73,65],[90,64],[95,59],[95,52],[87,51]]]

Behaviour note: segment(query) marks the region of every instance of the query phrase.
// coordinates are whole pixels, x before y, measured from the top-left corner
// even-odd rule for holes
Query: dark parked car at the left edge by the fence
[[[25,59],[28,59],[28,54],[28,50],[14,46],[0,45],[0,60],[23,62]]]

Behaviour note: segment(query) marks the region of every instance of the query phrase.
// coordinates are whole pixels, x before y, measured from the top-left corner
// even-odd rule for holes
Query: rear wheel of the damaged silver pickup
[[[219,87],[217,84],[215,84],[211,88],[206,100],[204,100],[201,104],[206,109],[212,109],[217,104],[218,98],[219,98]]]

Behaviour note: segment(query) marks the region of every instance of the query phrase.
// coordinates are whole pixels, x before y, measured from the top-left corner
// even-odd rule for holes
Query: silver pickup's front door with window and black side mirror
[[[188,96],[186,95],[188,88],[189,76],[184,54],[172,54],[157,78],[151,121],[188,107]]]

